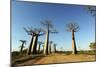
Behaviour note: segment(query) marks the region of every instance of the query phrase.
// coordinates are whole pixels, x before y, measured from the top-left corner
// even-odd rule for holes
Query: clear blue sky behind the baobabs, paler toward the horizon
[[[82,5],[50,4],[36,2],[12,1],[12,50],[19,50],[19,40],[27,40],[29,46],[31,36],[23,27],[44,28],[41,21],[51,20],[58,34],[50,34],[50,40],[57,44],[57,49],[71,50],[71,32],[66,31],[66,24],[76,22],[80,30],[75,33],[77,49],[89,49],[89,43],[95,41],[95,17]],[[45,41],[45,35],[39,41]]]

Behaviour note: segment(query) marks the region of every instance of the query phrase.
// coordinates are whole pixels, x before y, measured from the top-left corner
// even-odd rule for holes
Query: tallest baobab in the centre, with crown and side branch
[[[45,20],[41,22],[43,26],[46,27],[46,30],[44,31],[46,33],[46,40],[44,45],[44,54],[48,55],[48,45],[49,45],[49,33],[57,33],[56,30],[52,30],[53,25],[50,20]]]

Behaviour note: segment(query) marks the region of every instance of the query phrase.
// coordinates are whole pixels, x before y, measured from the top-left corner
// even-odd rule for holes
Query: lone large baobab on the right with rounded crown
[[[79,31],[79,25],[77,23],[69,23],[66,24],[66,28],[68,32],[72,32],[72,54],[77,54],[74,32]]]

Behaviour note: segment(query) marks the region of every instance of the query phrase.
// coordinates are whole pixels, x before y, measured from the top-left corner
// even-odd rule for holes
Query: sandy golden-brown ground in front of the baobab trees
[[[37,64],[54,64],[54,63],[69,63],[69,62],[84,62],[84,61],[95,61],[95,55],[66,55],[53,53],[46,56],[39,56],[17,65],[37,65]]]

